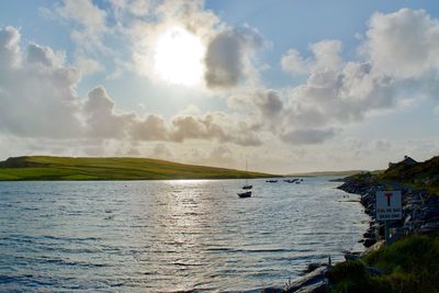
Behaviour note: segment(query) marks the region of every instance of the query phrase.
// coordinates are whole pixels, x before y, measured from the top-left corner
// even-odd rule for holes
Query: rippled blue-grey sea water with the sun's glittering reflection
[[[0,182],[0,292],[260,292],[362,250],[329,177]]]

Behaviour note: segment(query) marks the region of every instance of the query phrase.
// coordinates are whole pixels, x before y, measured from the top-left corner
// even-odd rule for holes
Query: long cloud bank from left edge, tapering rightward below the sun
[[[20,50],[20,33],[13,27],[0,29],[0,58],[8,60],[0,65],[3,132],[58,139],[132,143],[216,139],[238,145],[260,144],[257,133],[245,121],[236,122],[222,112],[200,114],[192,108],[166,122],[157,114],[139,116],[117,110],[102,86],[81,99],[76,92],[80,74],[65,66],[64,53],[31,43],[24,55]],[[90,151],[93,149],[97,147]]]

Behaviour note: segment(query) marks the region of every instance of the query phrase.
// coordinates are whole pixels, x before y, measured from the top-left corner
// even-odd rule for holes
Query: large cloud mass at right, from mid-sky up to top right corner
[[[293,144],[323,143],[335,135],[334,127],[437,97],[438,34],[438,20],[423,10],[402,9],[371,16],[360,46],[363,60],[344,61],[338,41],[312,44],[313,58],[289,49],[282,68],[308,76],[283,91],[281,113],[288,119],[278,122],[277,133]]]

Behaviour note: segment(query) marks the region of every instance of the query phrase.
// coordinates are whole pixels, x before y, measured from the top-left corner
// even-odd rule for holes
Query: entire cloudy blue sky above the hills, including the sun
[[[438,126],[436,0],[0,1],[0,159],[374,170]]]

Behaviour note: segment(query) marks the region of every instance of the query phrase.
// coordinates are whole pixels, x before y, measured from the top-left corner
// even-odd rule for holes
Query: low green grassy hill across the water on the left
[[[0,180],[239,179],[273,174],[143,158],[16,157],[0,162]]]

